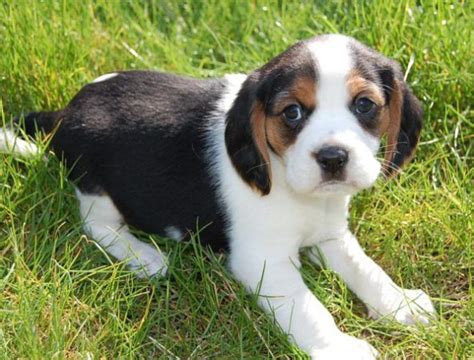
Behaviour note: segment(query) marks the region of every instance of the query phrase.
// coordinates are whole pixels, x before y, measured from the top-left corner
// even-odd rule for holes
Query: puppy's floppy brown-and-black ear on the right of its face
[[[394,79],[392,84],[384,164],[387,177],[394,176],[413,158],[423,126],[420,101],[402,80]]]

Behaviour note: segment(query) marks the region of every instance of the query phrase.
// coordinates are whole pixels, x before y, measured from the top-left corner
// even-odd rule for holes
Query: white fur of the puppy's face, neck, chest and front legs
[[[377,352],[373,347],[343,334],[303,282],[299,274],[301,248],[319,246],[327,264],[373,316],[388,316],[402,323],[427,322],[434,310],[426,294],[397,287],[363,253],[348,229],[350,194],[370,186],[380,171],[374,158],[379,143],[346,110],[345,79],[352,66],[347,39],[326,41],[330,43],[311,46],[321,75],[318,110],[285,159],[271,155],[272,189],[267,196],[244,183],[225,147],[222,112],[232,105],[243,77],[228,78],[228,89],[215,114],[217,125],[212,122],[209,129],[210,154],[228,213],[229,262],[235,277],[258,293],[259,304],[313,358],[374,359]],[[319,169],[309,156],[325,144],[348,149],[348,185],[318,186]]]

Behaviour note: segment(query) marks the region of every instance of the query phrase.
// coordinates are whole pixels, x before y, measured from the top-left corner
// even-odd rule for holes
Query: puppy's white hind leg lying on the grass
[[[166,257],[159,249],[134,237],[107,195],[86,194],[76,189],[84,230],[110,255],[140,278],[166,274]]]

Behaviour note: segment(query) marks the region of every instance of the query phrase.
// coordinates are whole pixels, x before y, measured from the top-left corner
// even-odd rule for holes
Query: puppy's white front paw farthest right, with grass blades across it
[[[369,309],[369,316],[388,318],[401,324],[428,324],[436,317],[436,311],[429,296],[422,290],[400,289],[397,299],[381,309]]]

